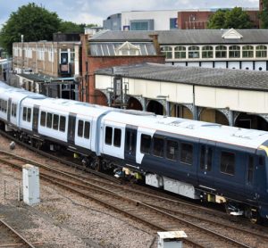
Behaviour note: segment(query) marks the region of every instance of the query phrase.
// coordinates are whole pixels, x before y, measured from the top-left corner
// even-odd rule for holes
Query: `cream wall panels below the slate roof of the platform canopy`
[[[96,88],[111,87],[111,77],[96,75]],[[156,99],[167,96],[171,103],[193,103],[193,86],[164,81],[129,79],[129,95]],[[226,97],[228,95],[228,97]],[[268,113],[268,93],[218,87],[195,87],[195,104],[200,107],[238,112]]]

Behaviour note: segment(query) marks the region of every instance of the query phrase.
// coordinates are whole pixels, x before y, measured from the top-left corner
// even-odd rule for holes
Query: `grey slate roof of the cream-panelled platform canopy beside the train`
[[[268,71],[180,67],[141,63],[96,70],[98,75],[121,76],[205,87],[268,91]]]

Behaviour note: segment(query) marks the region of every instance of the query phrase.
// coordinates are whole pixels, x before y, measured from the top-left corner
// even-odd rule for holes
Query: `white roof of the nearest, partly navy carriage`
[[[268,132],[255,129],[235,128],[221,124],[164,116],[135,116],[121,112],[109,112],[105,120],[129,124],[140,128],[185,136],[188,139],[205,139],[226,145],[238,145],[257,149],[268,140]]]

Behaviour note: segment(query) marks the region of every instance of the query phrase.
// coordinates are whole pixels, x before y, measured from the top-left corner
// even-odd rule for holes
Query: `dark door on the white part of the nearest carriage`
[[[126,128],[125,160],[128,163],[136,163],[137,127]]]

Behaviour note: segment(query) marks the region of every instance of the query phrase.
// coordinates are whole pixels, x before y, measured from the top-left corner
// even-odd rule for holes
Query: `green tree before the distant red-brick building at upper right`
[[[208,29],[251,29],[253,22],[250,21],[247,12],[242,8],[235,7],[232,10],[218,10],[208,21]]]

